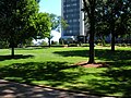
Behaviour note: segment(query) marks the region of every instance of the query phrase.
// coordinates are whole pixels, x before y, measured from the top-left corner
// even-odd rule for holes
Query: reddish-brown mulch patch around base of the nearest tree
[[[87,61],[82,61],[76,63],[75,65],[81,65],[83,68],[108,68],[109,65],[105,62],[97,62],[97,63],[87,63]]]

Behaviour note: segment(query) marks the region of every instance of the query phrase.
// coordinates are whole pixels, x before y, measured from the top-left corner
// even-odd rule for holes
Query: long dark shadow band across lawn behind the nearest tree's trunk
[[[84,57],[87,58],[90,54],[88,50],[72,50],[72,51],[56,51],[53,53],[62,57]],[[131,50],[116,50],[115,52],[108,49],[95,49],[95,57],[98,60],[106,61],[118,61],[118,60],[130,60]]]

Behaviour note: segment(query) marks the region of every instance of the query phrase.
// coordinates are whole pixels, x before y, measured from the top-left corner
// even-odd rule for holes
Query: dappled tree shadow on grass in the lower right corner
[[[131,61],[110,62],[109,64],[112,68],[99,73],[98,78],[87,81],[87,84],[93,87],[92,90],[97,94],[131,97]],[[82,89],[86,88],[82,87]]]

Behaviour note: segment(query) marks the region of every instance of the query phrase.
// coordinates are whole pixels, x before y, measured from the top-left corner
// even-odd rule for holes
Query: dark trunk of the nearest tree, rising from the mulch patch
[[[90,60],[88,63],[95,63],[95,50],[94,50],[94,35],[95,35],[95,8],[96,0],[83,0],[84,11],[87,14],[86,20],[88,20],[90,24]]]

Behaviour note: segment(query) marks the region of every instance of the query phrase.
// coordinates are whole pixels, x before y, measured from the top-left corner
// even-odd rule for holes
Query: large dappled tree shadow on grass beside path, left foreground
[[[79,71],[75,70],[79,68],[78,65],[69,65],[67,62],[14,63],[0,68],[0,78],[26,84],[34,84],[36,82],[35,84],[43,84],[50,87],[79,90],[78,87],[78,89],[74,88],[74,85],[83,84],[83,82],[78,82],[78,79],[83,74],[91,74],[83,73],[82,68]],[[86,88],[86,91],[87,94],[94,94],[88,88]]]

